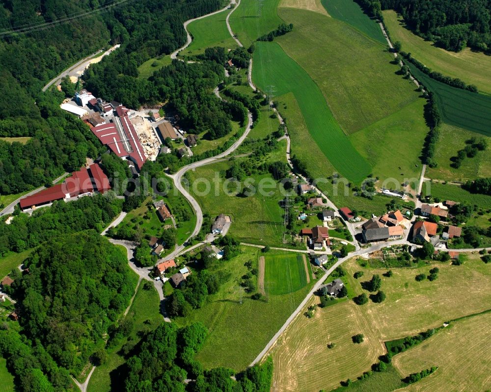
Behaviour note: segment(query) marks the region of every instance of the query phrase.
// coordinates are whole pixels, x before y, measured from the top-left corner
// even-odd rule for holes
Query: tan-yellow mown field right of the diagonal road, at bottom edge
[[[306,308],[318,301],[312,298]],[[297,316],[272,349],[272,392],[318,392],[339,387],[340,380],[355,379],[385,352],[371,320],[353,301],[317,309],[313,318]],[[352,337],[363,334],[364,341]],[[328,348],[328,343],[334,343]]]

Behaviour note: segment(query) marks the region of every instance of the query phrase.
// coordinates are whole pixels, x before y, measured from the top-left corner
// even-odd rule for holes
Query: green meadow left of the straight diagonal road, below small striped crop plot
[[[217,263],[211,270],[222,277],[218,293],[209,295],[205,305],[190,316],[176,319],[180,325],[200,321],[208,328],[209,335],[196,355],[205,368],[226,366],[236,371],[246,368],[312,287],[313,282],[295,292],[281,295],[267,292],[262,300],[250,299],[250,294],[240,286],[241,277],[248,271],[244,264],[251,261],[257,268],[262,255],[257,248],[241,247],[239,256]],[[271,286],[268,276],[265,286]]]

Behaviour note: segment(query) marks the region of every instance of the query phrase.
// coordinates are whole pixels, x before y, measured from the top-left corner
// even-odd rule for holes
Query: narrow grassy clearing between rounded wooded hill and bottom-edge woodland
[[[123,344],[137,344],[140,340],[139,334],[141,332],[152,331],[164,321],[162,314],[159,313],[159,294],[153,284],[150,290],[145,289],[144,282],[142,281],[137,288],[135,299],[125,318],[132,325],[130,336],[108,349],[108,360],[94,370],[88,384],[88,392],[123,390],[124,386],[120,385],[120,383],[124,380],[121,371],[125,358],[119,354]]]

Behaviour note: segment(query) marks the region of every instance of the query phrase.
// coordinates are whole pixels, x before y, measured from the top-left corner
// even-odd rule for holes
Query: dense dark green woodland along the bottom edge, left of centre
[[[234,371],[224,367],[203,370],[194,360],[207,335],[206,328],[191,324],[179,328],[162,323],[147,335],[139,353],[126,366],[127,392],[269,392],[273,376],[271,359],[252,366],[232,379]],[[186,386],[184,380],[192,381]]]

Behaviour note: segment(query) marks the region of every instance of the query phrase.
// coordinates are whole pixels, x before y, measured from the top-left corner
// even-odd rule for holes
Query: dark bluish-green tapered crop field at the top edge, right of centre
[[[351,0],[322,0],[322,5],[333,18],[339,19],[368,37],[387,45],[382,29],[375,20],[363,13],[361,7]]]

